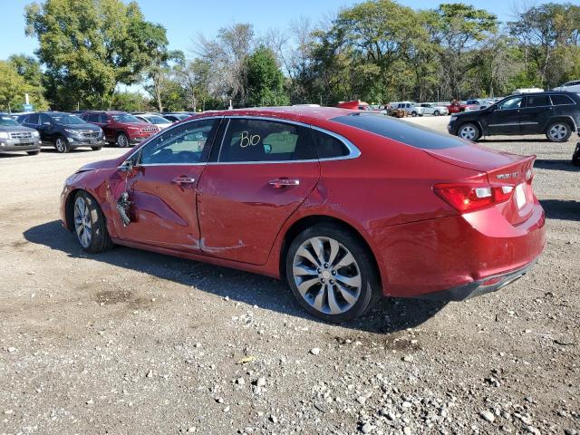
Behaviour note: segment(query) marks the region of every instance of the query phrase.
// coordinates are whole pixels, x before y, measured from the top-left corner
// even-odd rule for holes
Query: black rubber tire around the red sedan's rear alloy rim
[[[338,242],[338,244],[341,246],[340,251],[338,251],[339,254],[335,254],[334,257],[334,265],[336,265],[337,263],[339,264],[338,265],[339,268],[337,268],[336,270],[340,271],[340,274],[337,275],[334,271],[332,272],[332,276],[327,274],[328,275],[327,278],[329,278],[328,282],[329,285],[333,284],[332,278],[336,279],[338,282],[339,281],[338,276],[346,275],[344,269],[340,268],[340,263],[342,261],[340,260],[340,258],[346,257],[344,255],[344,253],[346,252],[345,250],[347,250],[352,254],[355,260],[355,265],[358,266],[355,267],[356,277],[359,278],[361,282],[360,289],[355,290],[359,292],[358,296],[355,299],[355,302],[352,303],[352,306],[350,306],[350,308],[348,309],[345,309],[340,314],[324,313],[324,310],[322,311],[318,310],[317,308],[314,308],[314,306],[311,304],[313,299],[315,299],[313,293],[320,294],[320,292],[323,291],[323,285],[318,284],[317,281],[319,278],[314,277],[314,281],[316,281],[316,284],[308,287],[308,290],[306,290],[304,296],[301,294],[300,290],[298,290],[298,285],[300,285],[301,283],[298,283],[297,285],[295,282],[295,274],[294,274],[295,259],[302,258],[304,260],[303,256],[296,256],[296,253],[298,252],[298,249],[300,249],[303,246],[304,243],[308,243],[308,240],[312,239],[313,237],[321,237],[326,240],[330,238],[333,239],[333,241]],[[332,255],[330,254],[329,249],[327,249],[325,252],[326,257],[330,257]],[[310,262],[310,265],[316,267],[312,262]],[[323,273],[328,272],[333,267],[332,265],[324,265],[324,266],[326,266],[326,269],[323,271]],[[330,266],[331,268],[329,269],[328,266]],[[322,267],[323,267],[322,265],[318,267],[317,273],[319,276]],[[303,232],[301,232],[298,236],[295,237],[295,239],[290,244],[290,247],[288,247],[285,255],[285,275],[286,281],[288,285],[290,285],[290,289],[292,290],[292,293],[295,295],[298,304],[300,304],[304,308],[304,310],[309,314],[312,314],[314,317],[322,319],[326,322],[341,323],[352,320],[355,317],[358,317],[368,312],[372,308],[372,306],[374,306],[382,297],[382,288],[381,285],[379,284],[380,281],[378,278],[379,274],[378,271],[376,270],[376,266],[372,258],[372,253],[369,252],[369,249],[361,242],[359,237],[354,235],[351,231],[332,224],[314,225],[313,227],[304,229]],[[302,276],[296,275],[296,279],[298,278],[302,279]],[[304,283],[304,281],[306,280],[312,279],[313,276],[306,277],[304,278],[304,280],[302,280],[302,283]],[[320,279],[322,279],[322,282],[324,282],[323,278]],[[335,291],[333,290],[334,288],[338,289],[338,285],[336,286],[332,285],[331,289],[328,290],[328,292],[331,291],[333,292],[334,297],[338,295],[338,298],[334,300],[340,299],[339,302],[345,303],[345,305],[349,305],[348,301],[343,299],[342,296],[343,292]],[[311,290],[314,290],[314,292],[309,293]],[[311,300],[311,303],[307,302],[306,298],[309,298]],[[329,301],[328,293],[324,293],[324,295],[321,296],[321,300],[325,301],[325,304],[328,308],[326,311],[330,310],[330,304],[328,302]]]

